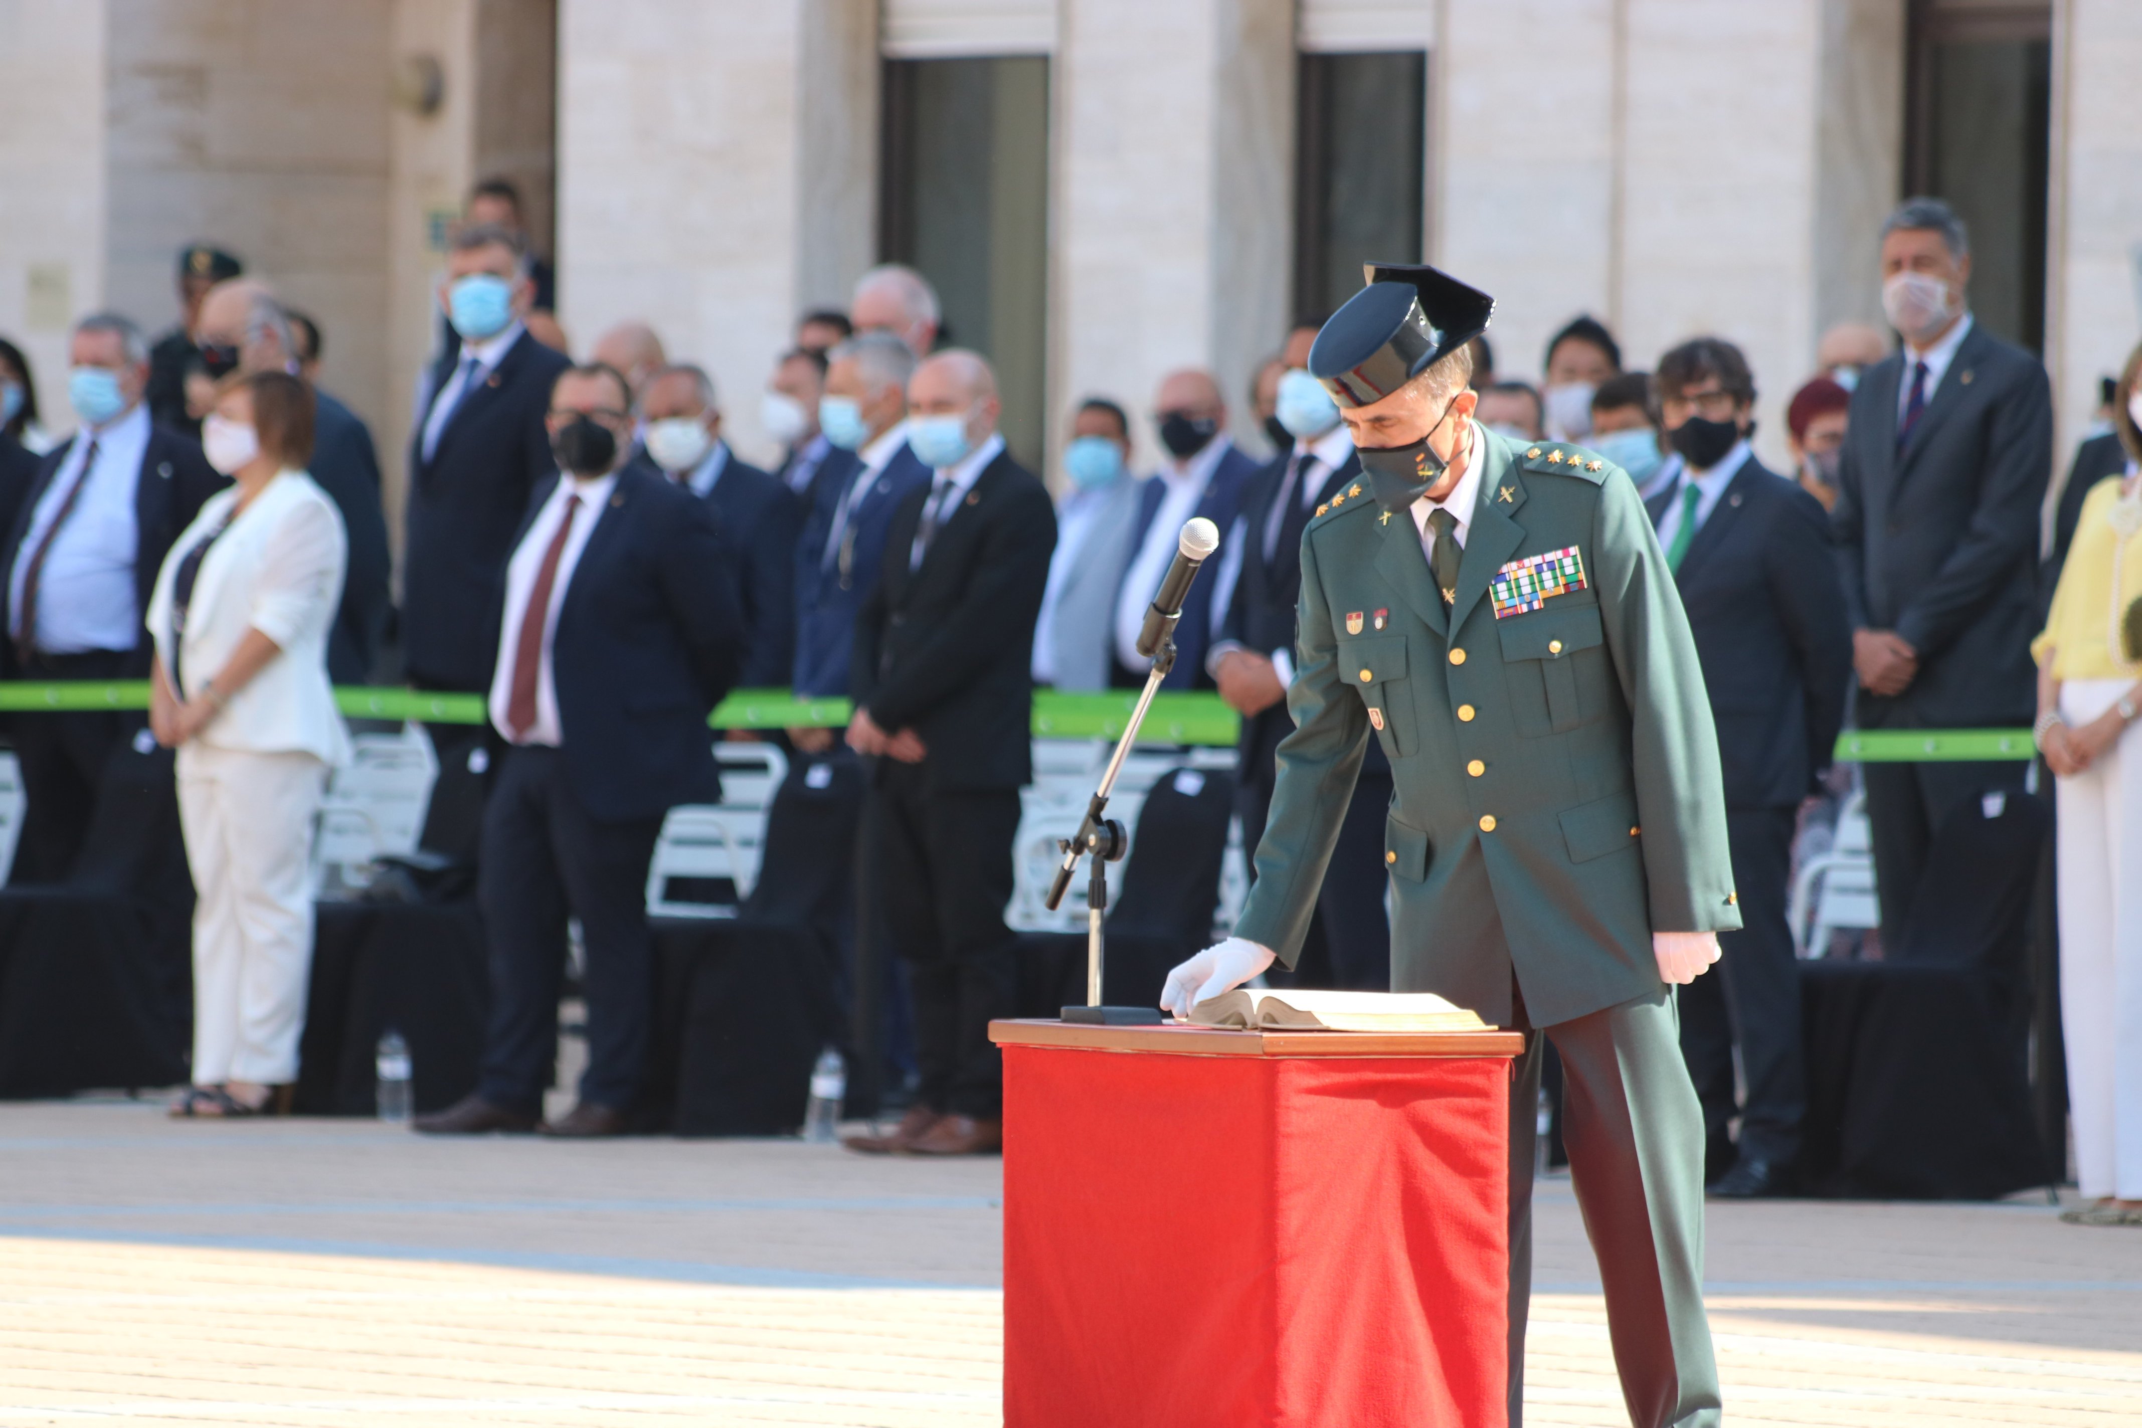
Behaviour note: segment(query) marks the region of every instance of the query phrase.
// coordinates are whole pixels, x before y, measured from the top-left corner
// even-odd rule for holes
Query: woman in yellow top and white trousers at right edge
[[[2037,747],[2058,777],[2061,1026],[2071,1225],[2142,1225],[2142,347],[2114,398],[2125,475],[2082,503],[2037,657]]]

